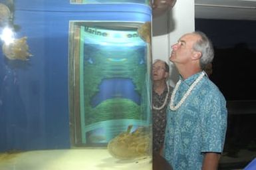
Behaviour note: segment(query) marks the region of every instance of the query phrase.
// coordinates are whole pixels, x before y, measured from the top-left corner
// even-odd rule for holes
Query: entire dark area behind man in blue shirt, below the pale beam
[[[243,169],[256,151],[256,21],[195,19],[195,29],[213,42],[210,78],[227,99],[225,154],[219,169]]]

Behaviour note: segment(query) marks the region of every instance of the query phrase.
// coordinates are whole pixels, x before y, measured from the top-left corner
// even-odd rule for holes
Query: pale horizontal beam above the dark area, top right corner
[[[195,0],[195,18],[256,21],[256,0]]]

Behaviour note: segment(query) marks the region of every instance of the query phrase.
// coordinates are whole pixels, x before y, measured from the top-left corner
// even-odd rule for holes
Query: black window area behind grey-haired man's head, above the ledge
[[[256,21],[195,19],[213,42],[211,80],[227,100],[256,100]]]

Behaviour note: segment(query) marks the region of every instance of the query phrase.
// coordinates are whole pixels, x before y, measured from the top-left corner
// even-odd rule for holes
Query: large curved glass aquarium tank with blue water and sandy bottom
[[[148,0],[0,0],[0,169],[152,169]]]

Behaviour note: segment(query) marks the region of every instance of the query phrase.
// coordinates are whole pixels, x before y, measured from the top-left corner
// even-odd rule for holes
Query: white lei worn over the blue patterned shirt
[[[186,100],[186,98],[188,98],[188,96],[190,96],[191,91],[193,90],[193,88],[196,86],[196,84],[203,78],[204,76],[204,72],[202,72],[197,79],[193,82],[193,84],[190,86],[190,88],[188,88],[188,91],[184,94],[184,96],[182,97],[182,99],[180,100],[180,102],[178,102],[178,104],[176,106],[174,106],[174,97],[175,94],[180,86],[180,84],[182,83],[182,80],[179,80],[174,88],[174,92],[172,92],[172,96],[171,96],[171,100],[170,100],[170,109],[175,111],[178,110],[178,108],[180,108],[180,106],[182,106],[182,104],[184,103],[184,101]]]

